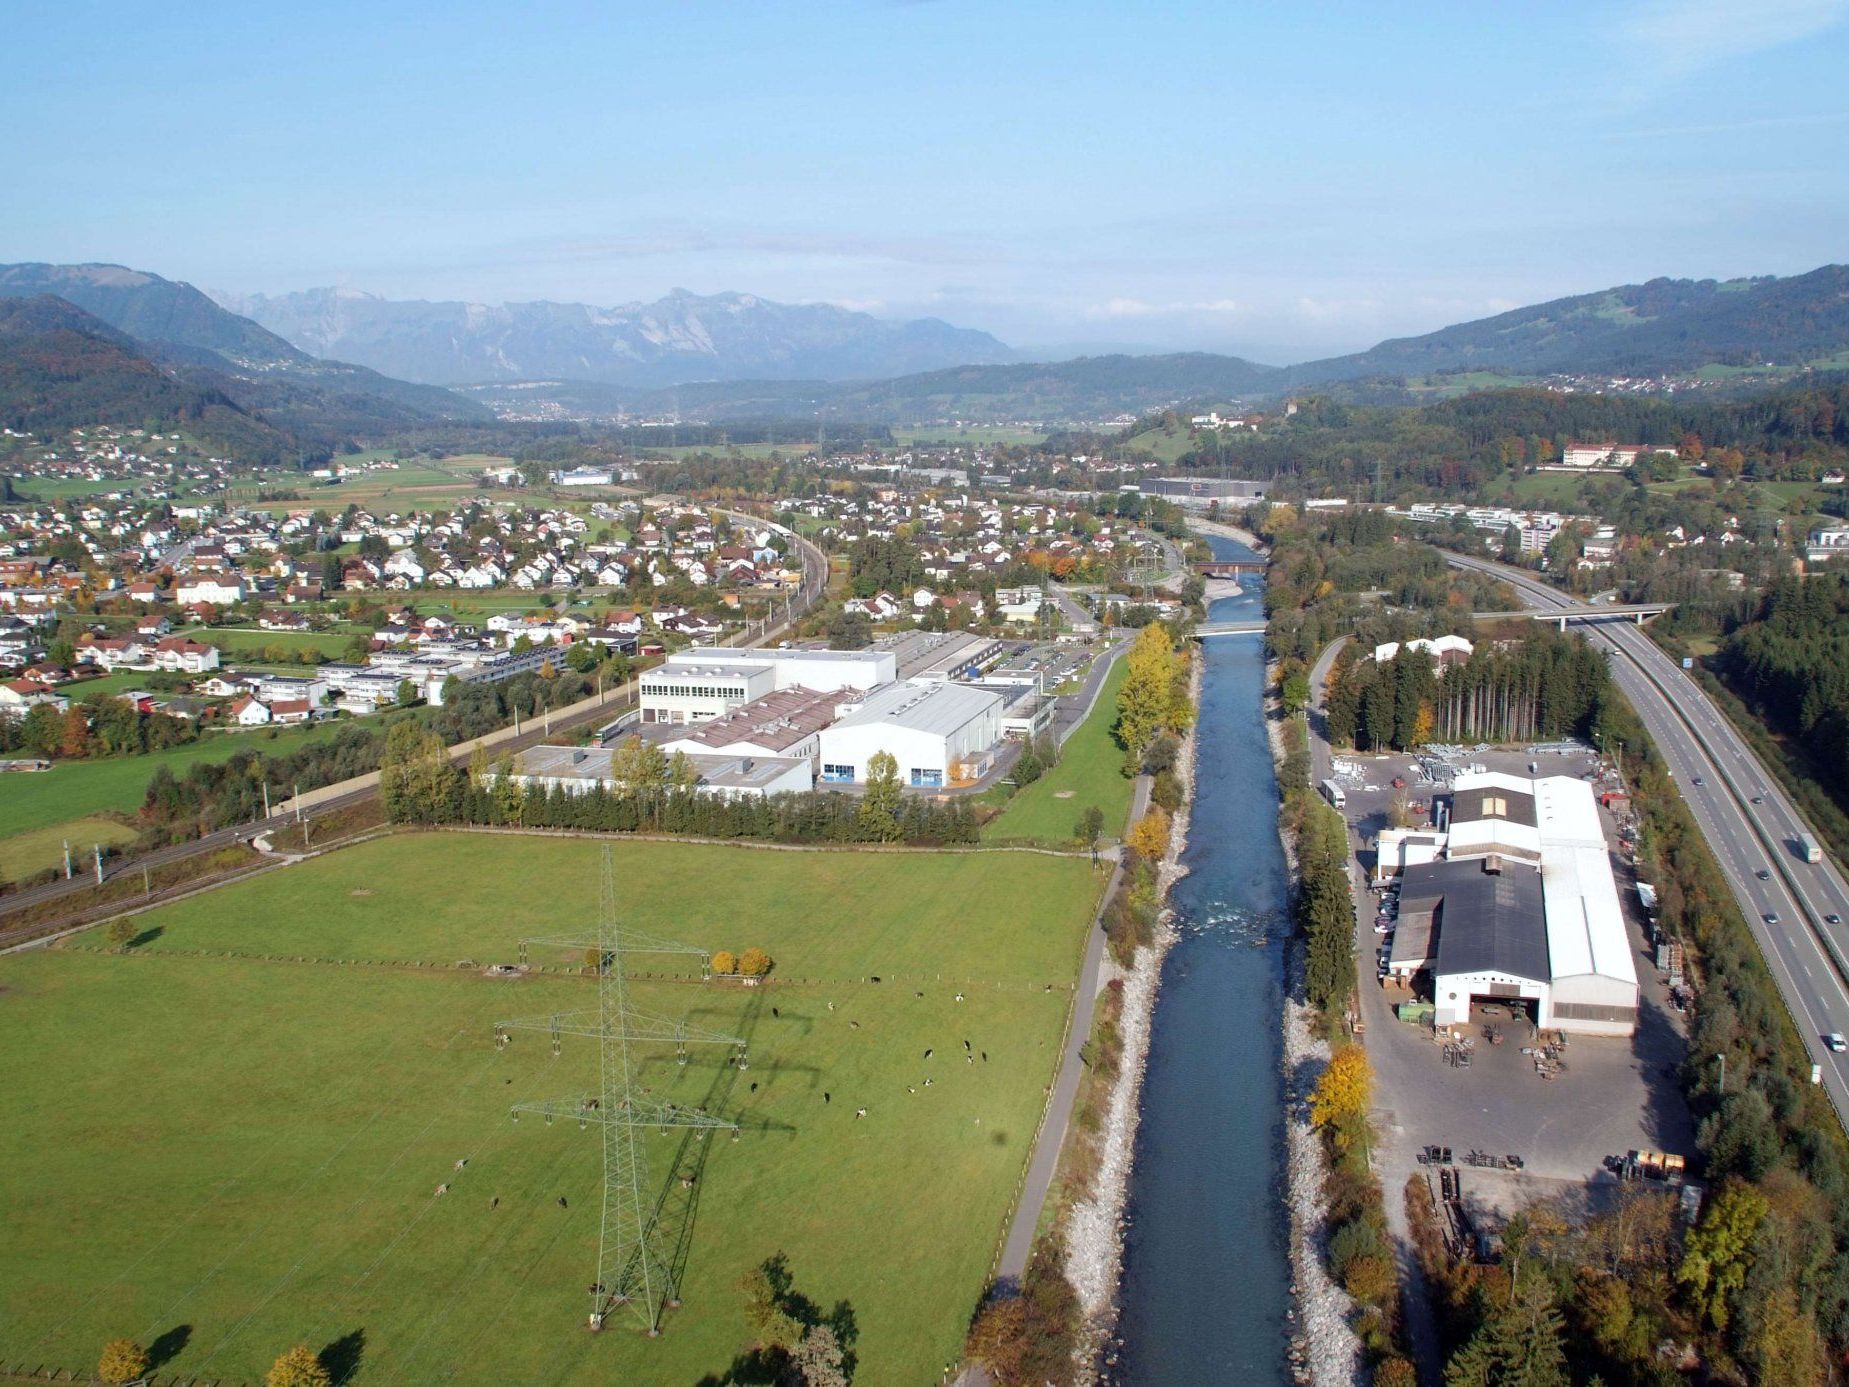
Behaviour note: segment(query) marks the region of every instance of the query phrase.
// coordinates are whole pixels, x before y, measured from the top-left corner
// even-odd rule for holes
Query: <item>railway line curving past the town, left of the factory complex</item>
[[[717,509],[717,507],[716,507]],[[765,523],[762,516],[751,516],[738,510],[719,510],[719,514],[729,516],[738,523]],[[764,627],[754,636],[745,632],[747,638],[741,645],[762,645],[799,620],[808,612],[815,601],[821,597],[828,584],[828,557],[815,547],[810,540],[797,533],[790,533],[795,542],[799,555],[802,557],[802,586],[790,597],[790,616],[784,621]],[[494,753],[501,751],[525,751],[527,747],[536,747],[542,742],[562,736],[566,732],[577,730],[586,723],[605,723],[616,718],[623,708],[632,708],[636,703],[636,681],[623,684],[621,688],[605,690],[599,695],[581,699],[579,703],[566,705],[564,708],[553,708],[544,719],[527,719],[520,730],[512,727],[503,727],[486,736],[475,738],[471,742],[459,742],[449,747],[449,758],[453,762],[468,762],[475,747],[484,747]],[[54,771],[55,775],[55,771]],[[261,838],[264,832],[276,832],[279,845],[288,845],[292,838],[300,838],[301,830],[296,827],[298,808],[301,817],[312,819],[318,814],[327,814],[331,810],[349,808],[366,799],[372,799],[379,792],[379,773],[370,771],[368,775],[355,775],[349,780],[340,780],[337,784],[322,786],[320,790],[307,790],[301,795],[301,803],[288,799],[281,793],[283,786],[276,786],[276,814],[266,819],[257,819],[251,823],[239,823],[229,829],[218,829],[216,832],[205,834],[203,838],[194,838],[185,843],[176,843],[172,847],[163,847],[153,853],[144,853],[137,858],[122,858],[109,862],[104,867],[104,877],[113,878],[124,871],[141,871],[142,867],[159,867],[168,862],[178,862],[181,858],[196,856],[200,853],[211,853],[213,849],[226,847],[237,841],[250,841],[251,838]],[[312,841],[312,827],[311,827]],[[44,886],[35,886],[24,891],[15,891],[11,895],[0,897],[0,917],[11,915],[15,912],[26,910],[41,901],[54,901],[63,895],[72,895],[85,891],[96,884],[96,877],[91,871],[78,871],[70,880],[54,880]],[[0,947],[17,943],[18,938],[30,936],[37,938],[39,928],[26,930],[6,930],[0,927]]]

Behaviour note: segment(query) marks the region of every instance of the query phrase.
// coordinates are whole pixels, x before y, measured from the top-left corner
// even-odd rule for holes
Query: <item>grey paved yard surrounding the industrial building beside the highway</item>
[[[1372,840],[1389,827],[1394,801],[1429,808],[1433,792],[1442,793],[1444,786],[1422,780],[1413,756],[1341,760],[1350,764],[1350,773],[1341,777],[1342,812],[1353,847],[1361,1021],[1376,1073],[1376,1165],[1394,1222],[1402,1219],[1398,1191],[1420,1169],[1416,1156],[1427,1145],[1450,1147],[1459,1163],[1474,1150],[1518,1156],[1520,1172],[1466,1169],[1464,1174],[1472,1200],[1503,1213],[1538,1197],[1583,1198],[1588,1180],[1610,1184],[1607,1156],[1629,1150],[1692,1154],[1694,1128],[1675,1082],[1686,1047],[1683,1019],[1670,1004],[1646,943],[1646,919],[1629,865],[1614,856],[1642,984],[1636,1036],[1568,1036],[1564,1049],[1549,1058],[1535,1050],[1551,1045],[1555,1032],[1537,1037],[1525,1012],[1509,1006],[1488,1008],[1488,1013],[1479,1008],[1472,1025],[1433,1034],[1429,1025],[1394,1015],[1394,1004],[1414,993],[1378,982],[1368,965],[1383,941],[1374,930],[1381,893],[1368,880]],[[1474,749],[1468,762],[1511,775],[1529,775],[1529,764],[1538,775],[1577,777],[1598,769],[1590,749]],[[1403,790],[1392,786],[1396,777],[1405,780]],[[1616,841],[1610,814],[1601,817],[1607,841]],[[1500,1043],[1490,1041],[1490,1032]]]

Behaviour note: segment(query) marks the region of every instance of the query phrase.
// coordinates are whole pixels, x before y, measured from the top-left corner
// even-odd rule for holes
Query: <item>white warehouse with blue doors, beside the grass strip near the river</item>
[[[926,790],[974,780],[1002,740],[1002,699],[967,684],[886,684],[821,734],[821,779],[852,784],[889,751],[900,784]]]

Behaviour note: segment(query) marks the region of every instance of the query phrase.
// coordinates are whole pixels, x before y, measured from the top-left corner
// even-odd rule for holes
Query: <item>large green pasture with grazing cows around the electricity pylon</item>
[[[544,1034],[490,1043],[496,1019],[586,1006],[590,984],[449,967],[590,928],[599,845],[418,834],[142,915],[129,956],[87,936],[0,960],[0,1361],[87,1370],[128,1333],[179,1341],[161,1374],[200,1381],[338,1343],[359,1350],[355,1383],[692,1385],[747,1350],[740,1276],[782,1252],[821,1313],[845,1302],[856,1383],[936,1380],[1028,1156],[1093,873],[1032,854],[614,853],[623,923],[778,960],[764,989],[632,986],[638,1006],[751,1041],[745,1071],[640,1054],[653,1097],[745,1128],[643,1139],[684,1263],[660,1339],[582,1330],[595,1128],[507,1119],[584,1091],[592,1041],[558,1058]]]

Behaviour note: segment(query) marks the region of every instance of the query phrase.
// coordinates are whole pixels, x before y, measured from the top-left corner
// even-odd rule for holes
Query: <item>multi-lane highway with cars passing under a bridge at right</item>
[[[1453,568],[1498,577],[1529,607],[1572,607],[1572,597],[1522,570],[1446,555]],[[1795,840],[1810,827],[1740,732],[1701,686],[1623,618],[1583,623],[1609,651],[1612,679],[1649,730],[1758,939],[1838,1119],[1849,1113],[1849,1054],[1823,1045],[1849,1032],[1849,880],[1825,854],[1808,864]],[[1762,878],[1764,875],[1764,878]],[[1773,915],[1773,921],[1768,921]],[[1705,1056],[1697,1056],[1705,1060]]]

